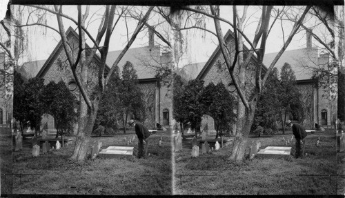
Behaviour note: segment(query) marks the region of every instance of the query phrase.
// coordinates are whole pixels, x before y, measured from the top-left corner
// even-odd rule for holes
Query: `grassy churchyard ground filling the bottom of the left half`
[[[48,155],[31,157],[30,141],[24,142],[20,152],[13,151],[13,173],[35,174],[14,177],[14,194],[60,194],[60,195],[171,195],[171,146],[170,132],[152,135],[147,159],[101,159],[88,160],[76,164],[68,158],[74,144],[55,150]],[[135,135],[115,137],[95,137],[92,141],[102,141],[103,147],[126,146],[127,139]],[[136,135],[135,135],[136,136]],[[159,139],[162,137],[162,146]],[[134,153],[137,155],[137,137]],[[88,150],[88,155],[90,149]]]

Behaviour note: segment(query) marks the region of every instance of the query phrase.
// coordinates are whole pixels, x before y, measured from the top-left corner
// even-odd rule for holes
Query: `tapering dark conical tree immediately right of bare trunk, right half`
[[[277,121],[279,120],[279,115],[281,115],[282,107],[279,97],[281,94],[280,89],[281,84],[278,79],[278,70],[273,68],[270,75],[268,75],[264,90],[257,103],[251,131],[257,129],[258,126],[262,126],[262,131],[266,134],[277,131]],[[261,131],[261,128],[258,131]],[[257,134],[260,135],[260,133]]]

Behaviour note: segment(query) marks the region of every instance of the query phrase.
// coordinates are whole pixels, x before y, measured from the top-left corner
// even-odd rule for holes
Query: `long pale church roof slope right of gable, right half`
[[[269,53],[264,56],[264,63],[269,65],[278,52]],[[275,68],[278,69],[279,74],[282,71],[284,63],[289,63],[295,72],[296,80],[311,79],[313,73],[311,69],[318,64],[317,48],[302,48],[297,50],[286,50],[282,57],[275,63]]]

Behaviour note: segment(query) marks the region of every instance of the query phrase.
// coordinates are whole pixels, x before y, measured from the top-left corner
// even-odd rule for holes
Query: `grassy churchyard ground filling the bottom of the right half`
[[[273,137],[250,138],[262,147],[285,146],[282,138],[292,132]],[[320,146],[315,146],[320,137]],[[295,152],[295,140],[290,143]],[[231,146],[207,155],[191,158],[191,140],[184,140],[184,150],[175,152],[175,195],[335,195],[336,177],[298,176],[337,173],[335,132],[308,135],[305,159],[246,160],[242,164],[228,161]],[[180,176],[182,175],[182,176]]]

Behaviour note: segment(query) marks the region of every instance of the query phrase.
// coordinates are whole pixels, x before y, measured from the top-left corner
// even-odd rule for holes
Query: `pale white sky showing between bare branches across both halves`
[[[239,9],[239,14],[242,16],[242,6],[237,6]],[[0,6],[1,8],[1,6]],[[102,6],[91,6],[90,15],[89,18],[92,15],[92,12],[95,12],[95,10],[99,10],[102,8]],[[257,6],[250,6],[248,9],[248,17],[247,17],[247,24],[246,28],[244,29],[244,32],[247,34],[250,40],[253,40],[253,36],[255,33],[255,29],[257,26],[257,23],[255,21],[258,20],[257,15],[261,14],[260,10],[257,10]],[[232,6],[222,6],[221,7],[221,17],[224,17],[228,19],[229,21],[233,21],[232,19]],[[257,11],[257,12],[255,12]],[[65,6],[63,8],[64,13],[71,13],[69,14],[71,17],[77,20],[77,6]],[[254,13],[254,14],[253,14]],[[256,13],[256,15],[255,15]],[[251,16],[253,14],[253,16]],[[250,17],[251,16],[251,17]],[[93,16],[95,17],[95,16]],[[96,16],[97,17],[97,16]],[[116,18],[115,18],[116,19]],[[63,19],[64,21],[64,27],[65,30],[68,29],[69,26],[72,26],[75,28],[74,23],[71,23],[68,19]],[[273,19],[270,20],[270,23],[272,23]],[[52,17],[47,17],[48,25],[54,26],[57,28],[57,19],[55,16],[52,15]],[[150,21],[148,21],[150,23]],[[152,23],[152,22],[151,22]],[[150,23],[150,24],[151,24]],[[88,27],[88,30],[92,35],[97,34],[97,29],[99,26],[99,21],[95,21],[91,23]],[[128,21],[128,29],[129,32],[132,32],[135,29],[136,24],[130,23]],[[288,37],[288,34],[290,33],[290,29],[292,28],[292,23],[284,23],[284,32],[285,32],[285,38]],[[225,23],[222,23],[221,25],[222,31],[224,34],[230,28]],[[28,27],[30,31],[33,33],[28,37],[30,40],[30,57],[29,60],[41,60],[41,59],[48,59],[50,53],[54,50],[55,46],[60,40],[59,34],[57,32],[54,32],[52,30],[47,30],[46,36],[43,35],[42,28],[34,28],[34,26]],[[214,21],[212,19],[206,20],[206,28],[214,30]],[[230,28],[233,30],[233,28]],[[145,32],[141,32],[135,42],[132,44],[131,48],[141,47],[141,46],[147,46],[148,45],[148,36],[147,36],[147,30]],[[188,32],[188,57],[189,63],[195,63],[195,62],[206,62],[208,60],[208,57],[212,55],[213,51],[215,50],[217,46],[217,38],[208,32],[206,32],[206,37],[201,38],[201,33],[195,32]],[[95,37],[95,36],[94,36]],[[157,41],[157,36],[155,36],[155,40]],[[121,19],[118,24],[118,28],[115,28],[115,32],[112,34],[112,38],[110,40],[110,51],[112,50],[122,50],[124,46],[126,45],[127,37],[126,37],[126,23],[124,22],[124,19]],[[93,46],[92,43],[88,42],[90,46]],[[270,52],[277,52],[282,48],[283,46],[283,34],[282,34],[282,26],[277,21],[275,23],[275,26],[273,26],[273,29],[270,32],[270,35],[268,37],[268,41],[266,44],[266,53]],[[305,48],[306,47],[306,37],[305,32],[302,31],[299,34],[296,34],[293,41],[291,41],[290,46],[288,46],[287,50],[293,50],[297,48]]]

